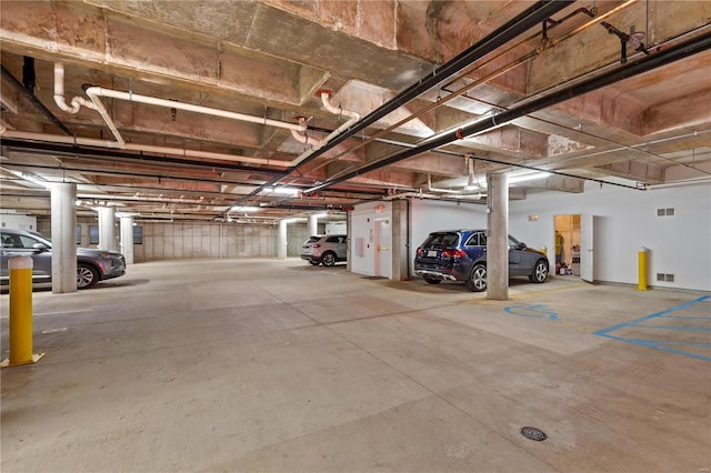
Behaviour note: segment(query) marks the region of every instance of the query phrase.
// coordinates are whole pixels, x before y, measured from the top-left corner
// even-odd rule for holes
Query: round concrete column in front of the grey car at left
[[[77,292],[77,184],[49,185],[52,208],[52,292]]]

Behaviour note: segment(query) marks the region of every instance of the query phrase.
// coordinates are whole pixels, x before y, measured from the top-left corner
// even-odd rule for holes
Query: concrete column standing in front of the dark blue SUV
[[[509,299],[509,179],[487,174],[487,299]]]

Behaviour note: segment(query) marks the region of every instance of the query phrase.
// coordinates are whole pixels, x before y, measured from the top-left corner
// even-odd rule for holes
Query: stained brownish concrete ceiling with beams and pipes
[[[401,194],[483,201],[465,185],[489,172],[511,172],[513,199],[708,179],[711,2],[570,2],[499,34],[537,6],[3,0],[2,208],[47,215],[43,183],[76,182],[80,214],[274,222]],[[534,170],[551,174],[515,183]]]

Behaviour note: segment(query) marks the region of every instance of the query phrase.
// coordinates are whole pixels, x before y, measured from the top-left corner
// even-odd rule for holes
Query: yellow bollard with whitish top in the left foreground
[[[10,270],[10,358],[0,368],[37,363],[44,353],[32,353],[32,259],[12,256]]]

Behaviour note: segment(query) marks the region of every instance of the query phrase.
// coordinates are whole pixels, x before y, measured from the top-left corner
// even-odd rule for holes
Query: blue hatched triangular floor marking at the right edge
[[[654,339],[639,339],[639,338],[629,338],[622,335],[614,335],[612,332],[623,331],[625,329],[639,330],[639,329],[658,329],[658,330],[667,330],[670,331],[671,334],[673,332],[697,332],[704,333],[710,332],[711,326],[708,324],[701,325],[704,322],[711,322],[711,316],[689,316],[689,315],[678,315],[677,313],[711,313],[711,306],[709,306],[711,302],[711,295],[703,295],[699,299],[694,299],[693,301],[684,302],[683,304],[673,306],[671,309],[663,310],[661,312],[657,312],[650,315],[645,315],[640,319],[635,319],[630,322],[623,322],[608,329],[599,330],[593,332],[594,335],[605,336],[608,339],[618,340],[621,342],[633,343],[635,345],[648,346],[654,350],[662,350],[670,353],[677,353],[684,356],[691,356],[699,360],[711,361],[711,356],[703,355],[699,353],[694,353],[685,349],[709,349],[711,348],[711,342],[683,342],[683,341],[672,341],[672,340],[658,340],[657,336],[662,336],[662,333],[655,335]],[[660,321],[661,319],[674,319],[677,321],[685,320],[691,323],[699,323],[699,325],[654,325],[655,321]],[[677,346],[677,348],[673,348]]]

